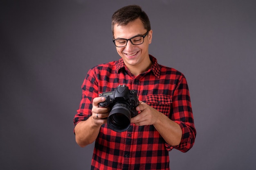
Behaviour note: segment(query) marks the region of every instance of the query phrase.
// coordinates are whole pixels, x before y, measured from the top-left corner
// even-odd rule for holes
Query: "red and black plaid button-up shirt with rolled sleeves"
[[[151,68],[136,77],[123,59],[90,69],[82,85],[82,100],[74,125],[92,115],[93,98],[125,84],[137,90],[139,100],[180,125],[180,145],[168,145],[153,125],[131,124],[127,131],[115,132],[103,124],[95,141],[92,170],[169,170],[168,151],[175,148],[186,152],[193,146],[196,131],[186,78],[173,68],[159,65],[151,55],[150,59]]]

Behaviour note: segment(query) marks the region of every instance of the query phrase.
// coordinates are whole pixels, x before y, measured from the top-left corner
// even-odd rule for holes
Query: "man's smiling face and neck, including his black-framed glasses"
[[[152,30],[144,28],[139,18],[126,25],[116,23],[113,26],[115,38],[113,41],[117,46],[117,53],[135,76],[147,71],[152,64],[148,55],[148,45],[152,40],[152,32]]]

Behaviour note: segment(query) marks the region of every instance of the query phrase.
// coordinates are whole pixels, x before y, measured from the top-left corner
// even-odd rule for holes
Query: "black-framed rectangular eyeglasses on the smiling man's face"
[[[113,42],[117,47],[125,47],[128,41],[130,41],[133,45],[139,45],[144,43],[144,38],[147,35],[148,35],[148,32],[146,32],[146,34],[144,35],[131,37],[130,39],[124,39],[124,38],[113,39]]]

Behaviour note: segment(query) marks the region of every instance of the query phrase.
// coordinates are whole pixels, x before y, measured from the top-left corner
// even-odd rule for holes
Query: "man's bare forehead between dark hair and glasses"
[[[140,19],[129,22],[127,25],[118,25],[114,26],[114,37],[115,38],[130,38],[135,35],[142,35],[146,32],[143,23]]]

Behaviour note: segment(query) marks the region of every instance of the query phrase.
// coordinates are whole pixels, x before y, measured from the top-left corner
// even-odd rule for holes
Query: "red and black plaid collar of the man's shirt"
[[[151,65],[150,69],[147,72],[152,71],[155,74],[155,76],[157,76],[159,78],[161,65],[159,65],[157,63],[157,59],[150,54],[149,54],[149,58],[153,64]],[[116,61],[116,65],[117,65],[117,68],[116,68],[117,73],[120,72],[122,70],[122,68],[125,70],[128,70],[128,68],[124,64],[124,60],[122,58],[119,59],[118,61]]]

